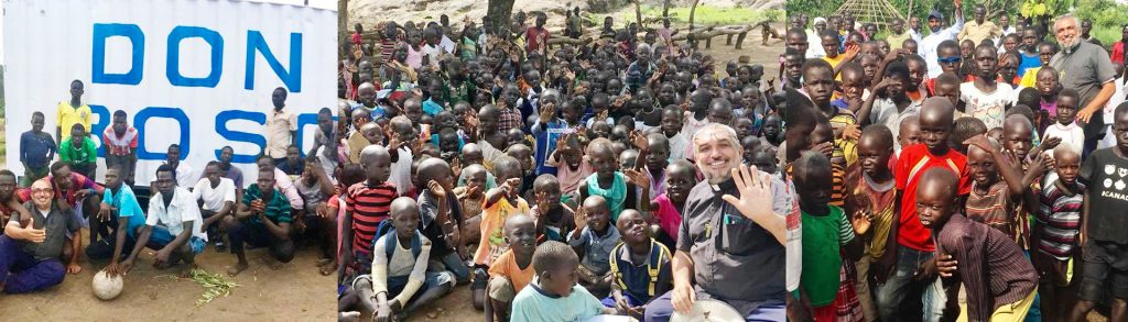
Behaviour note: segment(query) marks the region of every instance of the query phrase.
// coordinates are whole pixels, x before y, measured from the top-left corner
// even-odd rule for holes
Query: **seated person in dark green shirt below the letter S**
[[[248,267],[247,254],[243,250],[245,242],[256,247],[268,247],[271,256],[280,262],[290,262],[293,259],[293,241],[290,240],[290,223],[293,217],[290,200],[275,188],[275,173],[277,172],[273,167],[258,168],[258,181],[247,187],[235,216],[223,218],[227,239],[231,242],[231,252],[239,258],[239,262],[227,271],[230,276],[239,275]],[[279,266],[280,263],[274,263],[271,268],[277,269]]]

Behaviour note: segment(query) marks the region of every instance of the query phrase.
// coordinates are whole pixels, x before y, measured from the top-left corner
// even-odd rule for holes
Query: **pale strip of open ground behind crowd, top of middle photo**
[[[661,17],[662,7],[654,6],[642,6],[642,17],[643,19],[652,17]],[[588,16],[592,19],[596,26],[603,25],[603,15]],[[784,11],[779,9],[767,9],[767,10],[756,10],[750,8],[722,8],[722,7],[711,7],[711,6],[697,6],[697,11],[694,14],[694,25],[747,25],[752,23],[759,23],[763,20],[772,19],[774,21],[782,21],[784,17]],[[620,15],[615,16],[615,21],[635,21],[634,8],[623,11]],[[670,23],[671,24],[688,24],[689,23],[689,7],[675,7],[670,8]],[[616,24],[619,25],[619,24]],[[654,25],[653,27],[659,27],[661,25]]]

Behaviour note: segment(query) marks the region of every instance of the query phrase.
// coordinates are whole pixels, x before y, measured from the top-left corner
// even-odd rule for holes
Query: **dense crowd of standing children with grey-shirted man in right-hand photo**
[[[790,12],[794,321],[1085,321],[1102,303],[1128,321],[1122,57],[1075,17],[1015,29],[961,2],[928,30]]]

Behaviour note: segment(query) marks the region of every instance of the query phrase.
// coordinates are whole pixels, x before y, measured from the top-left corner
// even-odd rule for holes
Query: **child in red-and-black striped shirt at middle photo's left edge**
[[[349,187],[345,194],[345,220],[342,226],[343,247],[341,272],[351,268],[352,272],[370,271],[372,265],[372,241],[377,227],[388,217],[391,200],[396,199],[396,187],[388,182],[391,172],[391,155],[387,147],[369,145],[360,152],[360,163],[368,180]],[[345,279],[347,280],[347,279]]]

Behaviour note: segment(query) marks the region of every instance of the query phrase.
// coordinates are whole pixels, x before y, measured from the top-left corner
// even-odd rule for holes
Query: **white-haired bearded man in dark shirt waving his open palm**
[[[705,176],[689,191],[672,259],[673,289],[646,306],[645,321],[689,313],[697,299],[724,302],[748,321],[784,321],[783,181],[741,164],[737,132],[710,124],[694,135]]]

